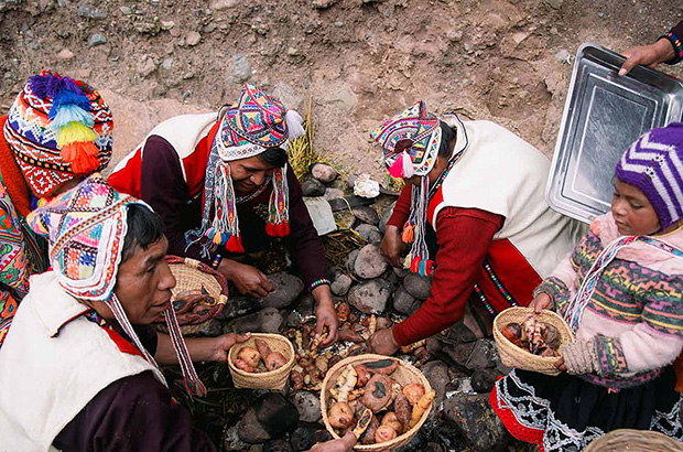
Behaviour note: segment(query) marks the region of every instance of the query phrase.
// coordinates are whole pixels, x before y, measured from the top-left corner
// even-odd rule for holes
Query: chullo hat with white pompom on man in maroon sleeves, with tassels
[[[301,116],[275,97],[261,89],[245,85],[236,105],[225,112],[212,144],[206,169],[205,197],[202,226],[186,235],[187,243],[207,237],[207,245],[223,245],[228,251],[243,252],[237,218],[237,198],[228,162],[247,159],[269,148],[286,150],[290,140],[304,133]],[[289,189],[286,166],[274,171],[269,219],[265,233],[271,237],[290,234]],[[212,212],[214,217],[209,218]]]

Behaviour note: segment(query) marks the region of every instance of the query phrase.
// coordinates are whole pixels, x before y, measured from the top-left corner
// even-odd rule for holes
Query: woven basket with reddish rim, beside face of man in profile
[[[178,315],[181,323],[181,332],[185,334],[194,334],[200,331],[214,316],[216,316],[226,302],[228,301],[228,281],[223,273],[214,270],[204,262],[191,258],[178,256],[166,256],[166,262],[171,272],[175,277],[175,287],[171,289],[171,302],[175,300],[178,293],[198,290],[204,288],[208,294],[216,300],[216,304],[212,306],[209,312],[204,315],[205,320],[200,322],[183,322],[182,315]],[[165,333],[169,332],[165,323],[156,325],[156,329]]]

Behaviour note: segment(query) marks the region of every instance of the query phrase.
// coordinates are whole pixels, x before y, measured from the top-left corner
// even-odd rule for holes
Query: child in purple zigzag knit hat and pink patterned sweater
[[[551,377],[512,369],[490,403],[516,438],[581,451],[616,429],[683,440],[672,363],[683,348],[683,123],[652,129],[621,157],[611,212],[534,292],[576,341]]]

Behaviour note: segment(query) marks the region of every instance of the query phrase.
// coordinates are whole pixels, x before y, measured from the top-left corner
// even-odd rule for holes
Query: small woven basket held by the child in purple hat
[[[533,313],[532,308],[508,308],[494,319],[494,338],[500,354],[502,364],[508,367],[516,367],[524,370],[538,372],[545,375],[559,375],[560,370],[555,367],[557,357],[555,356],[538,356],[531,352],[518,347],[502,335],[502,329],[510,322],[523,323],[527,315]],[[564,322],[564,320],[552,311],[543,310],[540,314],[535,314],[536,319],[542,320],[557,329],[560,332],[560,349],[564,344],[574,341],[574,334]]]

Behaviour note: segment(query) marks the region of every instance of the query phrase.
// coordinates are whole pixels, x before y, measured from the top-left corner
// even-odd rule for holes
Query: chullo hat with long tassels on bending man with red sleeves
[[[403,226],[403,241],[412,247],[405,267],[414,273],[427,276],[434,262],[429,259],[425,243],[426,207],[430,181],[426,177],[438,154],[441,127],[436,116],[430,114],[424,101],[384,121],[370,133],[384,151],[384,163],[393,177],[421,176],[420,186],[413,185],[410,217]]]

